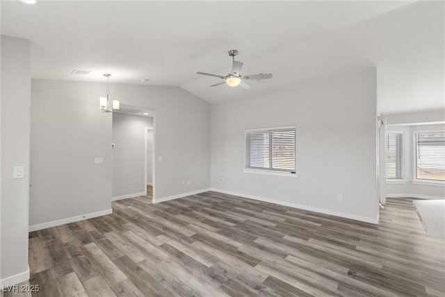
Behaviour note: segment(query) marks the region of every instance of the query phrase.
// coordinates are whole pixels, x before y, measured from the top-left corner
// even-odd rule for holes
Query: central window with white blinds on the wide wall
[[[295,127],[245,132],[245,168],[295,173]]]

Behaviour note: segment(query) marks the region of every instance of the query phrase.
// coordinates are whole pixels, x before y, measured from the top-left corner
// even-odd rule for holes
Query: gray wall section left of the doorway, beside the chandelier
[[[111,209],[111,114],[98,107],[104,90],[101,83],[32,80],[31,230]]]

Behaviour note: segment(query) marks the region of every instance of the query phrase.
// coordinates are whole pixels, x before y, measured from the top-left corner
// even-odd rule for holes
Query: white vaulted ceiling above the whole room
[[[33,78],[180,86],[209,102],[378,68],[382,113],[444,108],[444,1],[1,2]],[[229,49],[252,88],[218,86]],[[85,77],[72,70],[92,71]]]

